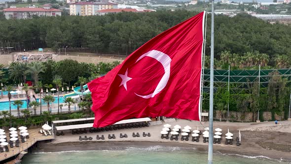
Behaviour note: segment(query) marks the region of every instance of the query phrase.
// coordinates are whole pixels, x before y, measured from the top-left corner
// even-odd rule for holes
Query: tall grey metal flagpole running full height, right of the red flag
[[[214,67],[214,0],[211,6],[211,52],[210,52],[210,99],[209,99],[209,145],[208,164],[212,164],[213,158],[213,70]]]

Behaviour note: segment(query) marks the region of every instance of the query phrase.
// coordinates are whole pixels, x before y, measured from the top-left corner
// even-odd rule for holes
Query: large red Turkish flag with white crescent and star
[[[161,33],[88,83],[94,127],[158,116],[200,120],[204,14]]]

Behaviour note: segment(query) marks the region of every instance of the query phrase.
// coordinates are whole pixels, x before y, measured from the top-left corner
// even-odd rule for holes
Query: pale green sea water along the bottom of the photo
[[[214,164],[288,164],[264,156],[242,156],[215,152]],[[195,148],[151,146],[125,150],[32,153],[21,164],[207,164],[207,152]]]

